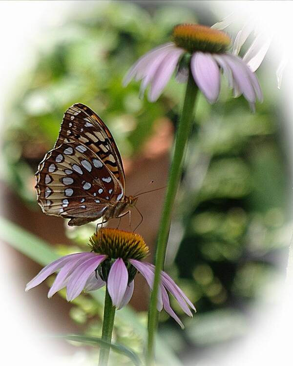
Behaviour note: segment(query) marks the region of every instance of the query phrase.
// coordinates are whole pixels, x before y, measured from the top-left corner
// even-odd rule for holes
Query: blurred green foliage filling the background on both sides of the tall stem
[[[149,103],[138,98],[138,83],[123,88],[122,80],[134,61],[168,40],[174,24],[196,21],[195,12],[183,5],[148,11],[130,2],[102,1],[77,13],[42,38],[36,65],[24,73],[7,110],[5,178],[27,203],[35,204],[33,174],[69,105],[83,102],[97,111],[130,158],[156,120],[167,116],[174,126],[178,120],[184,85],[170,81],[159,101]],[[267,77],[259,76],[261,83]],[[246,305],[265,299],[278,279],[277,260],[288,245],[289,191],[273,93],[264,94],[254,115],[244,98],[231,98],[225,81],[217,104],[210,106],[202,96],[198,101],[167,257],[167,271],[198,314],[187,319],[172,303],[185,332],[160,314],[161,333],[172,331],[164,339],[179,355],[243,336]],[[60,246],[59,254],[82,248],[91,232],[91,226],[68,230],[76,246]],[[95,315],[101,310],[83,295],[70,315],[87,335],[99,336]],[[146,324],[146,314],[138,319]],[[142,356],[143,339],[131,325],[117,321],[114,337]],[[129,364],[117,354],[115,362]]]

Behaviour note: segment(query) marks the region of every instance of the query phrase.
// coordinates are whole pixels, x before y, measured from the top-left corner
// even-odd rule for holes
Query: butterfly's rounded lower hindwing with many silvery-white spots
[[[65,142],[49,151],[36,173],[38,203],[48,215],[85,224],[102,217],[124,196],[102,159],[81,142]],[[80,220],[76,220],[80,219]]]

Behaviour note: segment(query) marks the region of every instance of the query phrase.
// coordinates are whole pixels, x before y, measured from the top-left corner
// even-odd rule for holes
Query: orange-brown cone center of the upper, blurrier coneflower
[[[199,24],[179,24],[173,28],[174,43],[188,52],[195,51],[224,53],[227,51],[231,39],[219,30]]]

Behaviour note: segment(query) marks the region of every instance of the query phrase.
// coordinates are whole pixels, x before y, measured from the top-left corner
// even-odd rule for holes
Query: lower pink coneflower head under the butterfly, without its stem
[[[32,279],[25,288],[25,291],[40,285],[47,277],[59,270],[56,279],[51,286],[48,297],[52,297],[57,291],[66,287],[67,301],[72,301],[84,290],[86,292],[97,290],[107,285],[107,290],[112,299],[112,304],[117,309],[121,309],[130,301],[134,289],[134,277],[140,272],[146,279],[149,288],[152,289],[154,280],[154,265],[141,262],[148,248],[142,237],[135,233],[128,233],[122,230],[103,228],[102,233],[96,233],[91,238],[93,250],[107,248],[107,254],[75,253],[69,254],[46,265],[41,272]],[[100,230],[100,231],[101,231]],[[101,244],[101,237],[105,245]],[[120,243],[113,238],[119,239]],[[114,239],[115,239],[114,238]],[[110,243],[110,246],[108,245]],[[122,244],[121,244],[122,243]],[[111,258],[110,253],[114,250],[123,255],[124,258]],[[121,250],[122,248],[122,250]],[[129,258],[129,254],[134,258]],[[104,267],[103,267],[104,265]],[[102,278],[103,277],[103,278]],[[167,291],[177,300],[182,310],[192,317],[190,308],[195,311],[195,307],[190,302],[184,292],[175,284],[170,276],[164,271],[161,272],[161,285],[158,294],[157,308],[166,312],[176,320],[183,328],[184,325],[170,306]]]

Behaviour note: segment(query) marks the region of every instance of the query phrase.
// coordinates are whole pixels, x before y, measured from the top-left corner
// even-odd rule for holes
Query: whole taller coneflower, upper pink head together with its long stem
[[[148,313],[148,345],[146,364],[154,358],[154,339],[157,329],[157,296],[161,270],[164,266],[171,213],[180,182],[184,152],[191,130],[194,105],[200,90],[210,103],[217,101],[223,72],[233,89],[234,97],[243,94],[254,111],[255,102],[263,95],[255,74],[238,56],[229,52],[231,39],[223,31],[199,24],[179,24],[174,27],[172,41],[149,51],[128,71],[124,85],[135,78],[141,81],[141,94],[149,86],[148,99],[155,102],[162,94],[174,71],[178,81],[187,82],[180,120],[169,171],[167,193],[162,213],[157,248],[153,291]]]

